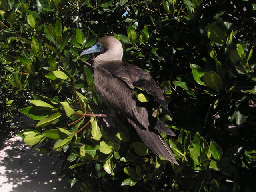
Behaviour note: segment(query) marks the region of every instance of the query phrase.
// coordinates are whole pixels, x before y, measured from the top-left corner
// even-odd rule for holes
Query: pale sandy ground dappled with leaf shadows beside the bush
[[[79,192],[61,178],[62,161],[31,150],[18,136],[0,136],[0,192]],[[42,157],[42,158],[41,158]]]

